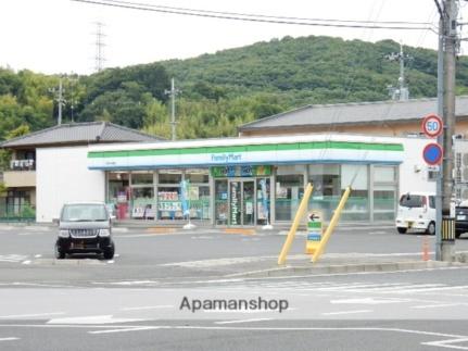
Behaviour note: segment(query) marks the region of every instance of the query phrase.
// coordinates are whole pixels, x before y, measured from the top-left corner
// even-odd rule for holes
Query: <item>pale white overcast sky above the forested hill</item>
[[[311,18],[431,22],[434,28],[439,18],[433,0],[134,2]],[[461,4],[461,16],[468,16],[467,4]],[[71,0],[1,0],[0,66],[46,74],[90,74],[96,67],[97,22],[104,24],[105,67],[193,58],[284,36],[325,35],[372,42],[393,39],[414,47],[438,47],[438,36],[431,30],[263,24],[116,9]],[[468,53],[466,42],[460,53]]]

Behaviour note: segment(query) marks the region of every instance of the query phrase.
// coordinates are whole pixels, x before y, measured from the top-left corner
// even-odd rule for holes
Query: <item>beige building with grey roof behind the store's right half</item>
[[[422,118],[438,112],[437,99],[306,105],[239,127],[240,136],[346,133],[413,136]],[[456,100],[456,134],[468,138],[468,96]]]

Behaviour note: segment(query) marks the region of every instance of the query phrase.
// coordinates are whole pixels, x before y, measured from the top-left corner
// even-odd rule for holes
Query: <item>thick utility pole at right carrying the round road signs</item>
[[[439,3],[438,3],[439,4]],[[451,217],[451,203],[454,189],[453,168],[454,150],[453,136],[455,134],[455,65],[458,46],[456,0],[443,0],[441,13],[443,40],[443,97],[442,117],[444,123],[442,146],[444,156],[442,161],[442,230],[437,237],[438,260],[452,261],[455,247],[455,218]],[[442,60],[439,60],[439,62]],[[440,240],[439,240],[440,239]]]

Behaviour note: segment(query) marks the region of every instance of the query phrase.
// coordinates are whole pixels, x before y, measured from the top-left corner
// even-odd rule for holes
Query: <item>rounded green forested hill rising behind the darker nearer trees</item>
[[[437,93],[437,52],[404,47],[413,97]],[[228,96],[270,92],[293,105],[389,99],[400,66],[385,59],[399,52],[392,40],[377,43],[331,37],[284,37],[188,60],[163,62],[182,85],[203,82]],[[468,59],[459,61],[458,84],[468,86]],[[190,89],[191,90],[191,89]],[[465,89],[466,90],[466,89]]]

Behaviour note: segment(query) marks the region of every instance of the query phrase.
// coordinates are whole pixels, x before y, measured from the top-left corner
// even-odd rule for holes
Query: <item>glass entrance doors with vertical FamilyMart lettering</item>
[[[255,224],[255,181],[229,180],[229,225]]]

